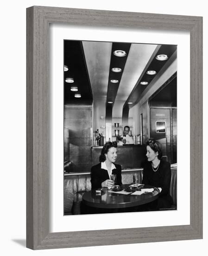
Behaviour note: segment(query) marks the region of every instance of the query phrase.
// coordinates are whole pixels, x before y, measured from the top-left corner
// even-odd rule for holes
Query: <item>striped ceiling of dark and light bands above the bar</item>
[[[154,77],[160,75],[165,63],[176,52],[176,46],[171,45],[73,40],[66,41],[64,49],[64,64],[69,65],[69,71],[64,72],[65,78],[74,75],[74,84],[79,85],[82,99],[93,99],[97,115],[106,115],[106,101],[113,97],[113,117],[122,117],[123,109],[129,110],[137,104],[149,86],[141,86],[140,81],[154,83]],[[126,57],[115,57],[115,49],[125,50]],[[167,54],[169,59],[158,61],[155,58],[157,54]],[[113,73],[112,67],[120,67],[122,72]],[[147,70],[156,70],[157,74],[147,75]],[[119,83],[112,84],[110,79],[118,79]],[[71,101],[73,95],[69,84],[65,83],[65,101]],[[133,104],[127,104],[128,101]]]

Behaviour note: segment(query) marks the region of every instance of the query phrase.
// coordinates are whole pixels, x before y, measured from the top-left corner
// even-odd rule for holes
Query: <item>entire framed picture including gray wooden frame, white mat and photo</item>
[[[179,133],[184,120],[189,127]],[[135,184],[146,185],[142,160],[150,137],[160,142],[163,153],[156,157],[158,165],[147,153],[152,171],[157,173],[163,162],[171,164],[173,210],[141,207],[159,201],[161,190],[154,190],[159,185],[151,196],[142,195],[140,187],[128,191]],[[105,160],[100,157],[104,171],[106,159],[120,164],[113,165],[117,180],[108,188],[114,171],[106,168],[107,178],[98,182],[97,167],[92,173],[91,167],[99,165],[103,146],[115,143],[111,148],[118,151],[113,151],[116,157],[110,158],[108,151]],[[184,147],[188,155],[182,159]],[[185,210],[176,203],[177,168],[183,187],[178,199],[188,202]],[[183,210],[188,222],[174,222]],[[148,222],[156,215],[163,222]],[[119,216],[122,223],[116,221]],[[200,238],[202,17],[28,8],[27,247]]]

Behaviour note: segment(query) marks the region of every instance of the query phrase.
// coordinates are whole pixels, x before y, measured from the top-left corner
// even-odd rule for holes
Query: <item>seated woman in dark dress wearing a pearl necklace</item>
[[[158,192],[160,191],[158,200],[148,204],[148,207],[150,209],[170,208],[173,203],[170,196],[170,163],[162,160],[158,141],[150,138],[146,143],[146,150],[147,162],[144,165],[142,183],[154,186]]]

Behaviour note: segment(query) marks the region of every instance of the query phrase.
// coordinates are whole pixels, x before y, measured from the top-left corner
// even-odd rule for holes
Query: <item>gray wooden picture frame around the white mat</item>
[[[190,32],[190,225],[49,232],[50,23]],[[27,8],[26,246],[31,249],[52,249],[200,238],[202,238],[202,17],[38,6]]]

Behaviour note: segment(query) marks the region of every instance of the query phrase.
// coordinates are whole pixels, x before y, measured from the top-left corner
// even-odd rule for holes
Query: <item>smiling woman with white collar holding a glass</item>
[[[116,175],[115,185],[121,185],[121,166],[115,164],[117,158],[117,143],[107,142],[100,155],[100,163],[91,168],[92,189],[101,187],[112,187],[113,181],[110,179],[111,174]]]

